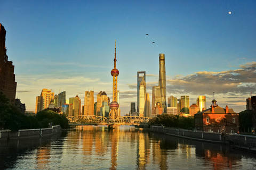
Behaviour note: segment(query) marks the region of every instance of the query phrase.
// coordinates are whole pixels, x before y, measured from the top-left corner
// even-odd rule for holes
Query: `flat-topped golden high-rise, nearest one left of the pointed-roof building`
[[[85,91],[84,115],[93,115],[94,112],[94,91]]]

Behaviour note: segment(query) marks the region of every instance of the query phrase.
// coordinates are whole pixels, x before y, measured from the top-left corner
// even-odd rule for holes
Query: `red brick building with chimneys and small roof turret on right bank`
[[[195,128],[201,131],[237,133],[239,131],[238,113],[233,109],[219,107],[212,100],[211,108],[194,115]]]

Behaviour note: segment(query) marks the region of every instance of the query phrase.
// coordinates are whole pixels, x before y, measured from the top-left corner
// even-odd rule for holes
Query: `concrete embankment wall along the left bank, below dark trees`
[[[60,125],[52,126],[52,128],[25,129],[25,130],[18,130],[14,132],[10,130],[3,130],[3,131],[0,131],[0,140],[42,137],[43,135],[56,133],[60,130],[61,130]]]

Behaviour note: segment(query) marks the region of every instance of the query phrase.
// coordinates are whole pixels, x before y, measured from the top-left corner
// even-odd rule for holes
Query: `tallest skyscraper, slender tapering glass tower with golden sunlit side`
[[[158,86],[161,89],[161,103],[163,113],[166,113],[166,76],[165,76],[165,59],[164,54],[159,54],[159,82]]]

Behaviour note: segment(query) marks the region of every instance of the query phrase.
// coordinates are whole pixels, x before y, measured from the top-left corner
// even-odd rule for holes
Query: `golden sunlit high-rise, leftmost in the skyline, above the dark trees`
[[[54,92],[49,89],[43,89],[41,96],[36,97],[36,113],[49,108],[50,102],[54,99]],[[39,106],[38,106],[39,104]]]

